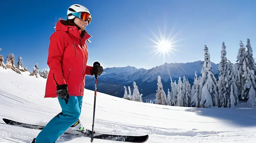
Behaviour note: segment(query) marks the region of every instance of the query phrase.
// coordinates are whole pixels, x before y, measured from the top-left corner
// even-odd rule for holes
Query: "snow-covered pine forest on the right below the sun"
[[[210,60],[210,53],[208,47],[204,45],[204,65],[201,70],[202,77],[197,77],[195,72],[195,79],[193,86],[188,83],[188,79],[183,77],[183,82],[179,78],[178,84],[176,80],[173,82],[171,78],[171,91],[168,89],[168,94],[164,93],[161,77],[158,76],[158,83],[156,90],[156,99],[147,101],[148,103],[155,103],[169,106],[181,107],[235,107],[239,101],[247,102],[251,106],[256,105],[256,64],[254,62],[252,47],[250,39],[247,39],[246,48],[242,41],[239,43],[239,50],[235,64],[232,64],[226,57],[226,46],[222,42],[222,50],[219,64],[219,78],[218,81],[212,73],[212,66]],[[134,82],[135,83],[135,82]],[[191,87],[191,88],[190,88]],[[131,96],[131,90],[127,95],[126,87],[124,98],[128,100],[138,101],[141,98],[138,87],[136,87],[136,94]],[[138,92],[138,93],[137,93]],[[141,102],[142,99],[140,99]]]

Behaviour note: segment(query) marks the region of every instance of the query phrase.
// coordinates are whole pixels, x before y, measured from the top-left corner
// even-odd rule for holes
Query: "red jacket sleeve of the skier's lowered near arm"
[[[64,31],[56,31],[50,37],[47,64],[58,85],[67,84],[61,68],[61,58],[67,40]]]

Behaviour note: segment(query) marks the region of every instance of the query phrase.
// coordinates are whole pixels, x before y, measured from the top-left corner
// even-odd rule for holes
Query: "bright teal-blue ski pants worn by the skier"
[[[54,143],[70,126],[78,120],[83,103],[82,96],[69,96],[68,104],[58,97],[62,111],[37,135],[36,143]]]

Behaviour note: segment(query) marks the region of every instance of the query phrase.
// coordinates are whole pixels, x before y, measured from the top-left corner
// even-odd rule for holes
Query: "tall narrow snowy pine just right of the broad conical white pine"
[[[218,89],[219,89],[219,100],[218,107],[223,106],[226,108],[229,104],[229,97],[231,91],[232,84],[232,66],[229,63],[226,52],[225,43],[222,42],[222,51],[221,51],[221,60],[219,64],[219,81],[218,81]]]

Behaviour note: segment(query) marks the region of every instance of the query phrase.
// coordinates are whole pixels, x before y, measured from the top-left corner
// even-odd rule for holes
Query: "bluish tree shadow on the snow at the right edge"
[[[189,112],[196,112],[200,116],[220,119],[222,123],[234,124],[242,127],[256,126],[256,107],[238,105],[236,108],[191,108]]]

